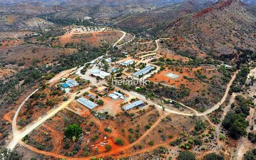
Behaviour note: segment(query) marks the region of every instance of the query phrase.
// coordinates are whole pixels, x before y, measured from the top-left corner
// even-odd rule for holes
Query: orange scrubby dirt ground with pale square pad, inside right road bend
[[[224,76],[223,72],[225,72],[226,76]],[[231,74],[226,69],[221,70],[211,67],[170,67],[154,74],[149,80],[163,85],[166,84],[166,86],[171,85],[177,88],[189,89],[189,95],[180,99],[180,101],[199,109],[210,107],[221,99]],[[215,86],[218,86],[218,88]]]

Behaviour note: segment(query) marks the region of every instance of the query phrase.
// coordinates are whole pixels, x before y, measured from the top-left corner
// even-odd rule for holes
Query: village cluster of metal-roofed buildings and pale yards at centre
[[[127,53],[123,53],[127,54]],[[156,54],[147,54],[141,57],[141,59],[150,60],[154,59]],[[133,108],[145,107],[146,102],[130,96],[129,93],[124,93],[119,90],[119,88],[115,88],[107,84],[106,79],[111,77],[111,73],[118,74],[120,69],[122,69],[122,73],[127,75],[127,77],[131,79],[139,79],[143,77],[150,76],[153,72],[155,72],[157,67],[147,65],[142,69],[137,69],[134,72],[130,72],[129,68],[133,65],[135,66],[138,63],[143,63],[138,60],[132,59],[131,57],[127,57],[125,60],[119,60],[112,62],[112,58],[107,58],[105,56],[99,57],[95,61],[91,61],[87,63],[86,72],[82,74],[84,68],[79,68],[77,72],[71,74],[73,78],[63,77],[60,79],[59,83],[61,84],[62,90],[65,90],[66,93],[69,93],[70,90],[74,92],[76,88],[79,86],[79,82],[81,81],[89,81],[91,86],[90,90],[83,93],[82,97],[76,99],[76,103],[79,104],[79,108],[75,108],[76,112],[80,112],[80,114],[84,114],[86,112],[92,112],[95,116],[99,116],[100,119],[104,119],[104,113],[109,113],[111,115],[116,115],[120,111],[129,111]],[[103,62],[105,64],[103,64]],[[104,65],[110,66],[109,69],[105,70]],[[79,79],[77,82],[76,79]],[[112,80],[113,81],[113,80]],[[125,105],[124,105],[125,104]],[[122,107],[120,107],[122,105]],[[82,109],[81,109],[82,108]],[[83,112],[81,112],[83,111]]]

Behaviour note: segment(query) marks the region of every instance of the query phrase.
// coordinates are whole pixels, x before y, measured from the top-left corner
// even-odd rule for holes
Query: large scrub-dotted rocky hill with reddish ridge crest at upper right
[[[218,2],[164,26],[159,37],[173,37],[170,48],[187,55],[198,51],[232,59],[235,47],[255,51],[256,18],[238,0]]]

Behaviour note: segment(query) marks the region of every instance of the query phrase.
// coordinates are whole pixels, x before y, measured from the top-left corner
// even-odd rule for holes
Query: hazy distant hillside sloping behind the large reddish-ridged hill
[[[168,24],[171,20],[196,12],[213,4],[213,2],[188,1],[179,4],[167,5],[156,10],[133,14],[126,17],[119,17],[113,20],[113,24],[122,28],[148,29],[152,28],[151,33],[159,30],[158,27]]]

